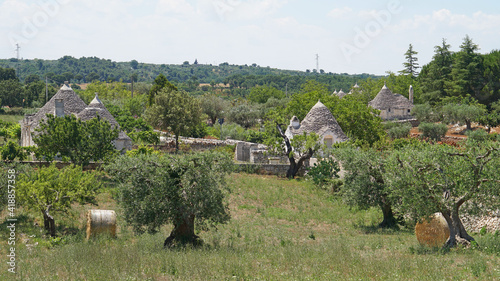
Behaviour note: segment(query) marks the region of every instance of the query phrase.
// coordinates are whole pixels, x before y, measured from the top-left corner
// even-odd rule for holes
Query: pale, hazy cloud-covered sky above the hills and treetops
[[[500,1],[0,0],[0,58],[69,55],[384,75],[412,44],[500,48]]]

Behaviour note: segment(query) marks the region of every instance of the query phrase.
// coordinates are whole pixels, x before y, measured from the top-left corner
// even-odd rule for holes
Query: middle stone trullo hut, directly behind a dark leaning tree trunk
[[[327,147],[349,139],[342,131],[342,128],[340,128],[330,110],[321,101],[318,101],[311,108],[302,122],[296,116],[292,117],[285,134],[289,139],[292,139],[293,136],[301,135],[304,132],[318,134],[321,142],[324,142]]]

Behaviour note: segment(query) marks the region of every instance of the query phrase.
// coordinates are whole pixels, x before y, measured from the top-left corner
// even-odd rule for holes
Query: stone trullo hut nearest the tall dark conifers
[[[384,84],[377,96],[368,103],[375,109],[380,110],[380,118],[384,120],[412,119],[410,111],[413,103],[400,94],[393,94]]]

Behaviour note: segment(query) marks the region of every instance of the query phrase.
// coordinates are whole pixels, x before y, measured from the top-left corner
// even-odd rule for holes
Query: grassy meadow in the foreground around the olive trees
[[[376,209],[349,210],[340,199],[309,182],[233,174],[232,220],[201,232],[204,246],[165,250],[170,228],[134,236],[119,219],[117,239],[85,241],[84,212],[56,216],[61,232],[52,242],[38,238],[33,217],[22,216],[17,232],[37,235],[16,243],[18,280],[500,280],[499,244],[493,234],[475,235],[481,249],[431,250],[411,230],[379,230]],[[101,209],[116,209],[110,193]],[[97,208],[97,207],[93,207]],[[18,211],[21,213],[21,211]],[[118,210],[118,214],[119,210]],[[5,215],[5,214],[4,214]],[[2,219],[4,221],[4,219]],[[39,219],[36,219],[40,223]],[[2,225],[5,229],[5,223]],[[7,233],[0,232],[6,259]],[[0,263],[0,279],[14,280]]]

